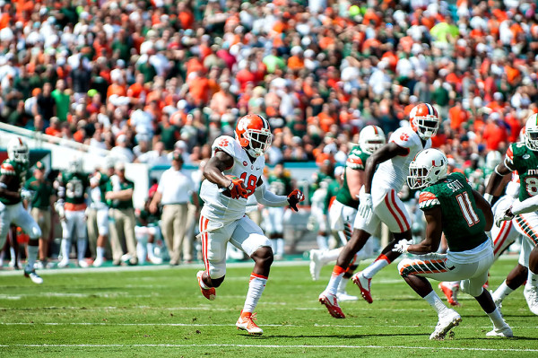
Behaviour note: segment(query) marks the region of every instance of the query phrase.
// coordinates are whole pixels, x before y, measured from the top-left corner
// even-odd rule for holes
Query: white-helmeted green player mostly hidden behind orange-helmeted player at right
[[[339,188],[336,198],[329,209],[329,223],[333,231],[341,240],[342,244],[351,237],[352,223],[359,207],[359,191],[364,182],[364,168],[369,156],[386,143],[383,130],[377,126],[367,126],[360,131],[359,145],[351,148],[345,162],[343,171],[343,185]],[[343,248],[332,250],[310,250],[310,275],[316,281],[319,278],[321,267],[336,260]],[[353,275],[353,271],[359,266],[359,261],[373,255],[373,240],[369,240],[360,249],[351,265],[343,275],[343,280],[338,284],[336,297],[339,301],[355,301],[356,296],[346,293],[346,286]]]

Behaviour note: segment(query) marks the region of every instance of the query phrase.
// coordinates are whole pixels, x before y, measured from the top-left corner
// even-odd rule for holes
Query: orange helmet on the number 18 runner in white
[[[267,119],[257,114],[247,114],[236,125],[236,139],[251,157],[259,157],[273,141]]]

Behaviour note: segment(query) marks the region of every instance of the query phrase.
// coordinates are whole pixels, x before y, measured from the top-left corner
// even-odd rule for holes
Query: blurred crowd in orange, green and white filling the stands
[[[0,118],[196,164],[254,112],[269,163],[339,162],[360,128],[388,135],[430,102],[461,168],[538,111],[537,53],[530,0],[0,0]]]

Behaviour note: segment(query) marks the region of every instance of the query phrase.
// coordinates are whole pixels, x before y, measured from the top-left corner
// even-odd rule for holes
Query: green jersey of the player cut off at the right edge
[[[528,149],[525,143],[510,144],[505,164],[519,174],[519,201],[538,194],[538,152]]]

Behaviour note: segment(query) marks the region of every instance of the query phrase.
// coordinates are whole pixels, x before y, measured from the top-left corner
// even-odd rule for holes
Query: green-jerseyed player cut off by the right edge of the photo
[[[500,186],[503,177],[517,171],[519,198],[495,221],[500,223],[515,218],[517,231],[525,233],[527,243],[533,248],[527,253],[525,246],[529,245],[522,246],[524,251],[520,258],[523,259],[520,259],[518,266],[519,275],[524,273],[523,266],[528,267],[523,293],[529,310],[538,315],[538,114],[534,113],[527,118],[524,136],[525,143],[514,143],[508,147],[505,161],[495,168],[484,197],[491,200],[492,193]]]

